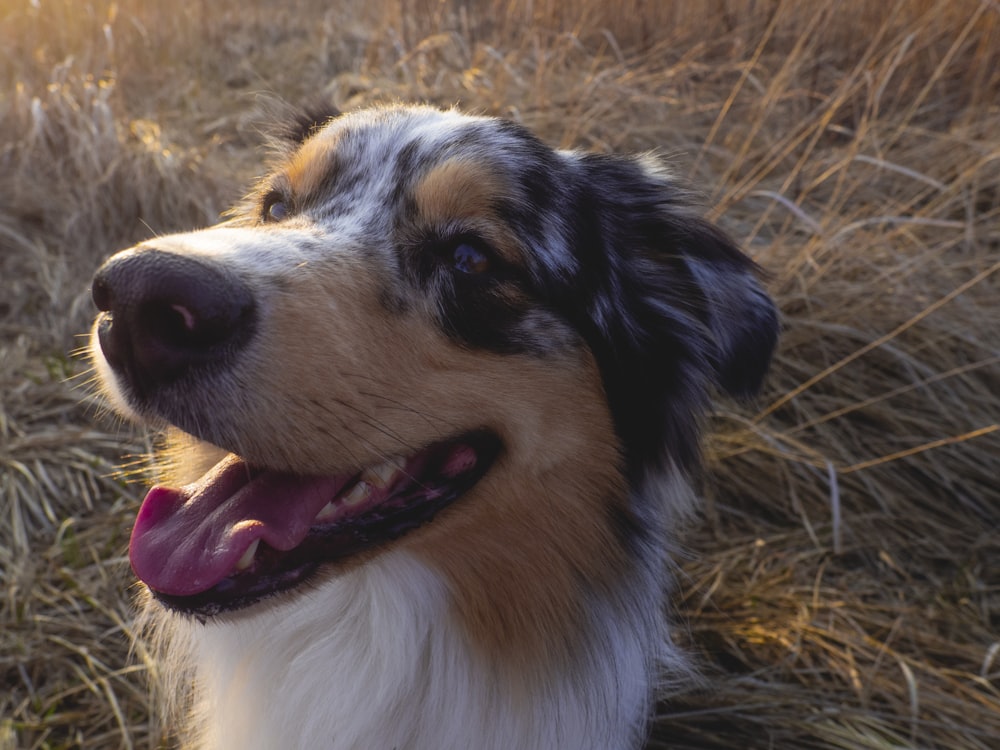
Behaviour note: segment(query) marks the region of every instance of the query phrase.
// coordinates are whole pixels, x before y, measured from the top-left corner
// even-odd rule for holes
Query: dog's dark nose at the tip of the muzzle
[[[208,260],[126,250],[98,269],[92,294],[101,351],[140,397],[192,368],[225,366],[253,334],[250,289]]]

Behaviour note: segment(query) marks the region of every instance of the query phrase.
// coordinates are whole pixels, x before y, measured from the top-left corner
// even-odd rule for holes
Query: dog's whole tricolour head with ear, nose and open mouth
[[[525,535],[574,574],[627,556],[622,519],[694,468],[711,390],[761,383],[754,264],[649,156],[430,108],[296,130],[232,219],[95,277],[112,402],[219,459],[150,492],[139,576],[213,613],[390,544],[447,542],[470,591],[503,574],[470,558]]]

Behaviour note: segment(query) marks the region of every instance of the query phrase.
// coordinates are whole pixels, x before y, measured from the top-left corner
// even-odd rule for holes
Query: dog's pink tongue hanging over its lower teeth
[[[132,569],[163,594],[200,594],[230,575],[255,539],[279,550],[302,542],[349,480],[274,471],[252,477],[228,456],[194,484],[149,491],[132,529]]]

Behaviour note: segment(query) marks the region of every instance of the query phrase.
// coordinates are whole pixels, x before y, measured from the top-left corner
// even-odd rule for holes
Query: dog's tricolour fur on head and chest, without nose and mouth
[[[298,130],[231,220],[132,251],[251,290],[252,335],[138,383],[95,329],[105,394],[167,429],[171,484],[228,452],[338,474],[481,428],[503,452],[432,523],[295,590],[208,618],[143,597],[171,729],[205,750],[639,746],[657,691],[694,679],[672,553],[708,396],[755,391],[774,344],[755,267],[649,155],[421,107]]]

